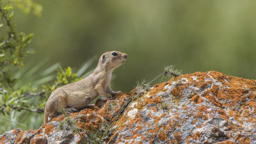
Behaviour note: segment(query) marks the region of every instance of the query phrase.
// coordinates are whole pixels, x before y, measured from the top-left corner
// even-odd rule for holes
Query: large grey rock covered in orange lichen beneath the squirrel
[[[255,80],[196,72],[4,132],[0,143],[256,143],[255,100]]]

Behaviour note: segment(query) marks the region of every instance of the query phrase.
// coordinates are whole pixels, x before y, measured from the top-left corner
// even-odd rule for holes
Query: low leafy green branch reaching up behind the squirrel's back
[[[42,91],[40,92],[35,92],[39,88],[31,89],[28,85],[22,86],[19,89],[3,89],[0,94],[0,98],[3,100],[0,102],[0,113],[10,115],[13,109],[44,113],[44,104],[53,90],[56,90],[56,88],[63,84],[73,83],[78,80],[76,73],[73,73],[70,67],[65,68],[65,70],[59,68],[54,83],[42,85]],[[40,97],[37,102],[29,102],[36,96]]]

